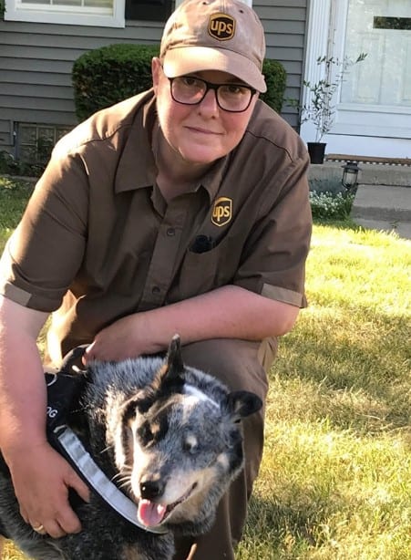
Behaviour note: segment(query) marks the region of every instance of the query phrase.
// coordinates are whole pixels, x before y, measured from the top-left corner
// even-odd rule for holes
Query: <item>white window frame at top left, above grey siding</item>
[[[39,5],[5,0],[5,20],[69,26],[125,27],[125,0],[113,0],[113,9],[75,5]]]

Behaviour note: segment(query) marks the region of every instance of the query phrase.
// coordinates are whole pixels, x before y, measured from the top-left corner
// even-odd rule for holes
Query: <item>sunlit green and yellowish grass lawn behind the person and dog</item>
[[[26,196],[1,184],[0,244]],[[411,558],[410,295],[410,241],[314,226],[310,305],[272,367],[238,560]]]

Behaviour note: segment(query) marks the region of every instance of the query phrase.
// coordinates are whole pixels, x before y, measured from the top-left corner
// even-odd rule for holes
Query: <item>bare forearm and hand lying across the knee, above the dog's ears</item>
[[[117,360],[207,338],[262,340],[288,332],[299,308],[227,285],[170,306],[119,319],[98,333],[86,359]]]

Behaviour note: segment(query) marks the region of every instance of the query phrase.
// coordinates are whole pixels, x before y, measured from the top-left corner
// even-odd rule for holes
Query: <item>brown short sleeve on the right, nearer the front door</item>
[[[275,186],[267,185],[234,279],[236,285],[300,307],[306,306],[304,271],[312,230],[307,166],[303,155],[273,177]]]

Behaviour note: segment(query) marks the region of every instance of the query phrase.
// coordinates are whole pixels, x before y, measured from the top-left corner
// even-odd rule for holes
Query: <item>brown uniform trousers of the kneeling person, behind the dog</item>
[[[275,349],[272,340],[260,343],[219,338],[183,347],[182,358],[187,365],[211,373],[231,389],[256,393],[265,403],[266,371],[275,357]],[[252,414],[242,424],[244,470],[222,497],[211,531],[195,539],[178,540],[174,560],[234,560],[234,548],[241,540],[252,482],[262,460],[264,410]]]

